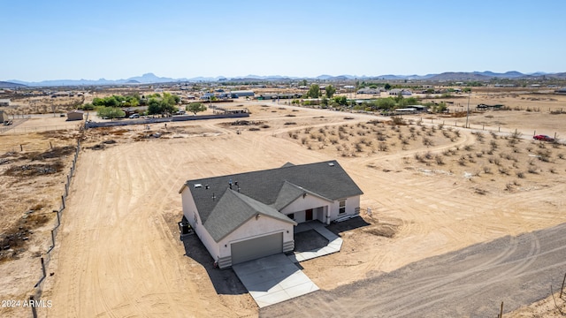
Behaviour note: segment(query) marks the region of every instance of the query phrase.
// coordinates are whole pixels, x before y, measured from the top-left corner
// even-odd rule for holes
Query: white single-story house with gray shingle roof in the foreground
[[[294,226],[359,213],[362,190],[336,161],[188,180],[183,215],[221,269],[294,250]]]

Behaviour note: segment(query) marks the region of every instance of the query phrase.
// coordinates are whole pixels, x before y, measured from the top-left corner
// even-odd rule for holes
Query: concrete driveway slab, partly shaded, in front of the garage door
[[[232,268],[260,308],[318,290],[285,254],[246,261]]]

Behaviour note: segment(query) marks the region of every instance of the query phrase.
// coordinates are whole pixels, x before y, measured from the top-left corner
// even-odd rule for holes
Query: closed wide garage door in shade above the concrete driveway
[[[232,243],[232,264],[283,253],[283,232]]]

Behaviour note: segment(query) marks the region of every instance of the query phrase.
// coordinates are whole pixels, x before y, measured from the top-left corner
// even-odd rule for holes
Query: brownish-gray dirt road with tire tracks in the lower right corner
[[[494,317],[547,297],[566,269],[566,224],[496,239],[260,310],[260,317]]]

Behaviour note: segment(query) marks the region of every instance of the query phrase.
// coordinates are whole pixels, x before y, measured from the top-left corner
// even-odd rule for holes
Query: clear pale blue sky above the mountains
[[[0,0],[0,80],[566,72],[566,1]]]

